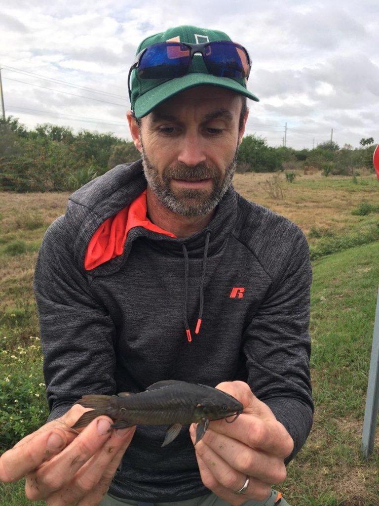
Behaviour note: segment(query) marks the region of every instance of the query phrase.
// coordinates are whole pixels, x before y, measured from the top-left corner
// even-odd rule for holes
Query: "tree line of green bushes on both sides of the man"
[[[239,148],[237,171],[321,171],[356,176],[372,168],[374,139],[360,147],[324,142],[314,149],[271,147],[257,135],[247,135]],[[73,191],[119,163],[140,158],[132,142],[113,134],[86,130],[74,134],[67,126],[50,123],[27,130],[17,118],[0,118],[1,191]]]

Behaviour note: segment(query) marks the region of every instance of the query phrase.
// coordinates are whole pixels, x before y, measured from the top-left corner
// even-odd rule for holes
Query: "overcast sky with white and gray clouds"
[[[329,141],[332,129],[341,147],[379,142],[377,0],[0,0],[0,11],[6,114],[30,129],[50,122],[130,139],[127,75],[140,40],[192,24],[250,52],[260,102],[248,101],[248,134],[279,146],[287,123],[295,149]]]

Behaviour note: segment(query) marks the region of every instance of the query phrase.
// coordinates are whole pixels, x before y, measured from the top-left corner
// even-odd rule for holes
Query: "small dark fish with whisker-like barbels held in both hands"
[[[197,423],[197,444],[211,420],[225,418],[232,423],[244,409],[243,404],[225,392],[207,385],[168,379],[154,383],[144,392],[120,392],[117,395],[84,395],[75,402],[92,408],[80,416],[72,429],[85,427],[94,418],[112,418],[111,428],[123,429],[134,425],[167,425],[162,446],[171,443],[183,425]],[[234,416],[230,421],[228,417]]]

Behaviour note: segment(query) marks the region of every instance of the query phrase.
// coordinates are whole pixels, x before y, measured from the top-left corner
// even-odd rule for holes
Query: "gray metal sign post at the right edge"
[[[376,300],[376,312],[370,370],[368,372],[368,387],[366,396],[366,409],[364,412],[362,453],[365,458],[372,452],[374,447],[376,419],[379,404],[379,290]]]

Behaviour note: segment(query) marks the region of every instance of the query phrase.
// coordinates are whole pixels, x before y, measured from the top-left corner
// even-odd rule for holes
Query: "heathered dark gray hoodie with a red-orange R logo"
[[[293,437],[290,460],[313,412],[304,234],[230,187],[205,230],[178,239],[132,228],[122,255],[86,271],[94,232],[145,188],[140,161],[118,165],[71,195],[45,234],[34,289],[50,419],[84,394],[140,392],[163,379],[213,387],[240,379]],[[207,493],[188,430],[162,448],[164,433],[137,427],[113,495],[175,501]]]

